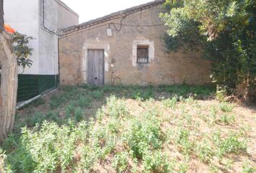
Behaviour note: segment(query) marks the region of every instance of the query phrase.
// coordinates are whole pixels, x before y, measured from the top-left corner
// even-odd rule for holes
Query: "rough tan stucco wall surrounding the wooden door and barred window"
[[[86,83],[87,50],[105,50],[105,84],[205,84],[210,82],[210,63],[200,53],[167,53],[163,43],[166,27],[158,17],[162,6],[144,9],[123,19],[118,32],[111,25],[112,37],[106,35],[114,19],[59,38],[59,65],[61,84]],[[129,25],[129,26],[128,26]],[[135,26],[140,25],[140,27]],[[143,27],[142,27],[143,25]],[[145,25],[158,25],[145,27]],[[120,25],[116,25],[120,27]],[[153,46],[150,63],[138,65],[136,43]]]

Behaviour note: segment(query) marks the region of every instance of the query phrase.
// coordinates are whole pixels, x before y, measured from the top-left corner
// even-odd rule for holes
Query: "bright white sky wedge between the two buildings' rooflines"
[[[61,0],[77,12],[80,23],[90,19],[103,17],[113,12],[118,12],[132,6],[145,4],[153,0]]]

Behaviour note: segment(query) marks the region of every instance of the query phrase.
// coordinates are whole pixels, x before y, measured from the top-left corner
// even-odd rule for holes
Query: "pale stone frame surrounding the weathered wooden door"
[[[88,50],[104,50],[104,84],[108,82],[106,79],[106,73],[109,71],[111,64],[110,45],[108,43],[98,42],[96,40],[86,40],[83,45],[82,53],[82,79],[83,83],[88,84]]]

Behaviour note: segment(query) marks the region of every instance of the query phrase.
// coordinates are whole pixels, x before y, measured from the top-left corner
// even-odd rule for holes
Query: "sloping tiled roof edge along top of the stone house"
[[[80,30],[82,28],[85,28],[85,27],[90,27],[90,26],[93,26],[93,25],[98,25],[102,22],[107,22],[111,19],[116,19],[116,18],[119,18],[119,17],[123,17],[127,14],[132,14],[132,13],[135,13],[135,12],[140,12],[141,10],[143,9],[149,9],[153,6],[158,6],[159,4],[163,4],[165,2],[165,0],[155,0],[155,1],[151,1],[151,2],[148,2],[146,4],[142,4],[142,5],[139,5],[139,6],[134,6],[132,8],[129,8],[129,9],[124,9],[124,10],[121,10],[119,12],[114,12],[114,13],[111,13],[111,14],[108,14],[104,17],[100,17],[100,18],[97,18],[97,19],[93,19],[93,20],[90,20],[88,22],[84,22],[80,25],[74,25],[74,26],[71,26],[71,27],[67,27],[67,28],[64,28],[62,29],[61,31],[62,32],[70,32],[72,30]]]

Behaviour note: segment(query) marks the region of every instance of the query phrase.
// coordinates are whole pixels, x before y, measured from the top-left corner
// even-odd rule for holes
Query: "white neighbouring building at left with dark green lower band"
[[[31,68],[19,70],[18,102],[56,88],[59,79],[58,32],[77,25],[79,16],[60,0],[4,1],[4,22],[14,30],[32,36]]]

